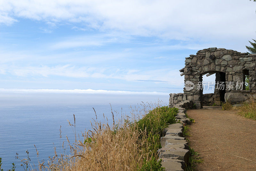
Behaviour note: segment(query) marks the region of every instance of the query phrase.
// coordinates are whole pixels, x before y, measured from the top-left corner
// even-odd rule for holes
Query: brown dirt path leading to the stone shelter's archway
[[[190,146],[204,159],[198,171],[256,171],[255,120],[238,116],[235,110],[199,109],[187,113],[196,122],[190,126]]]

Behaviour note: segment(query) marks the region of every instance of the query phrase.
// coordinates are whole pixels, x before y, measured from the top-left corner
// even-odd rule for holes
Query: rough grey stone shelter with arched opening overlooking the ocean
[[[203,105],[220,105],[220,102],[230,101],[239,103],[247,100],[251,93],[256,92],[256,54],[241,53],[225,48],[208,48],[199,50],[196,55],[186,57],[185,67],[180,70],[184,75],[185,85],[194,84],[194,87],[187,89],[184,93],[171,93],[169,106],[173,107],[184,101],[191,101],[196,108]],[[203,94],[203,75],[215,74],[214,93]],[[249,90],[245,90],[245,78],[249,77]],[[224,83],[224,89],[219,89],[217,82]],[[239,85],[237,90],[236,86]],[[200,87],[201,86],[201,87]],[[181,105],[182,104],[182,105]],[[183,107],[183,106],[182,106]]]

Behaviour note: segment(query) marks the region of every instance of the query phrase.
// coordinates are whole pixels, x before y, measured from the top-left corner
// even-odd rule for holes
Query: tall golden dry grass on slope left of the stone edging
[[[31,167],[29,162],[28,165],[34,171],[137,171],[145,161],[157,159],[156,150],[160,145],[160,135],[154,134],[156,129],[153,129],[158,124],[157,129],[163,132],[165,127],[162,123],[163,114],[158,110],[160,106],[159,102],[147,105],[142,103],[139,108],[132,110],[132,115],[122,116],[118,121],[114,120],[111,111],[113,124],[96,120],[92,124],[92,129],[85,132],[74,144],[71,144],[67,138],[69,155],[55,152],[55,156],[49,157],[48,162],[39,163],[38,169]],[[154,108],[156,109],[153,110]],[[146,115],[148,113],[150,117]],[[175,112],[173,114],[175,115]],[[148,117],[147,124],[152,123],[152,125],[147,127],[151,127],[152,130],[141,127],[141,123],[138,122],[141,116]],[[170,121],[173,122],[172,118]],[[75,124],[74,126],[69,124],[75,127]]]

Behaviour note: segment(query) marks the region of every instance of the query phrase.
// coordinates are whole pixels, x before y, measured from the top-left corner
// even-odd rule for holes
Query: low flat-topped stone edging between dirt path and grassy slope
[[[157,152],[166,171],[184,171],[188,165],[190,152],[188,142],[182,133],[184,125],[190,124],[190,120],[186,117],[186,109],[183,108],[186,105],[188,104],[174,106],[179,109],[175,117],[177,121],[180,120],[180,123],[169,125],[168,128],[164,129],[165,136],[161,137],[162,148],[158,149]]]

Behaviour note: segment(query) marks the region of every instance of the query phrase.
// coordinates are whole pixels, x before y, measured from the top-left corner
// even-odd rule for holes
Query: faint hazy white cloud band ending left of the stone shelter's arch
[[[31,76],[61,76],[69,78],[107,78],[127,81],[134,80],[159,80],[170,85],[183,85],[183,77],[177,70],[151,69],[151,70],[129,70],[125,68],[112,67],[77,67],[74,65],[56,66],[2,66],[1,74],[11,74],[19,77]],[[173,81],[175,80],[175,81]]]

